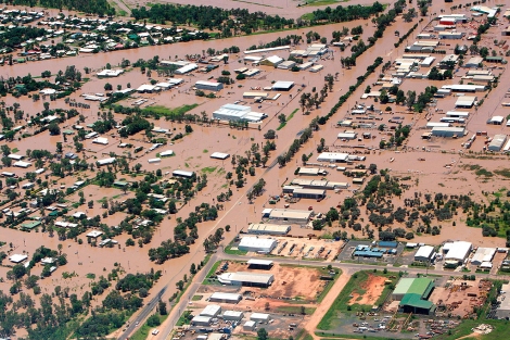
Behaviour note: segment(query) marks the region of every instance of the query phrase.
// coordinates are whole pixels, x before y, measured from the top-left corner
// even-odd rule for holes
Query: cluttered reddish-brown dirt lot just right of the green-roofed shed
[[[437,305],[437,315],[444,311],[445,315],[464,317],[473,313],[473,307],[482,306],[486,294],[490,289],[487,281],[464,281],[455,279],[444,287],[436,287],[430,297],[430,301]]]

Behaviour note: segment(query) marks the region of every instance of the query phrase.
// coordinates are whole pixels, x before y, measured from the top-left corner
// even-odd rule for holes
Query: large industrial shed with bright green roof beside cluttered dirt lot
[[[426,300],[433,290],[434,281],[429,278],[400,278],[392,298],[400,301],[404,313],[429,315],[435,311],[435,305]]]

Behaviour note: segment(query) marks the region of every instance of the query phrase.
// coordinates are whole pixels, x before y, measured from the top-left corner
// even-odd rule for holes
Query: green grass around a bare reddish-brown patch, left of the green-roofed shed
[[[348,280],[347,285],[345,285],[344,289],[340,292],[339,297],[335,299],[331,307],[326,312],[324,317],[320,320],[319,325],[317,325],[318,329],[321,330],[328,330],[332,328],[332,322],[337,317],[339,312],[347,312],[348,308],[352,311],[361,311],[362,308],[365,310],[370,310],[372,306],[371,305],[360,305],[360,304],[353,304],[348,306],[348,302],[352,299],[350,294],[352,293],[359,293],[364,294],[365,290],[361,289],[362,284],[367,281],[368,277],[370,275],[374,276],[382,276],[385,278],[390,278],[390,276],[396,276],[398,277],[397,273],[390,273],[387,272],[384,274],[383,272],[378,270],[377,273],[373,273],[373,270],[361,270],[358,273],[355,273],[350,279]],[[393,280],[394,282],[396,279]],[[381,304],[387,293],[391,291],[391,286],[392,285],[386,285],[381,293],[381,297],[378,299],[375,304]]]

